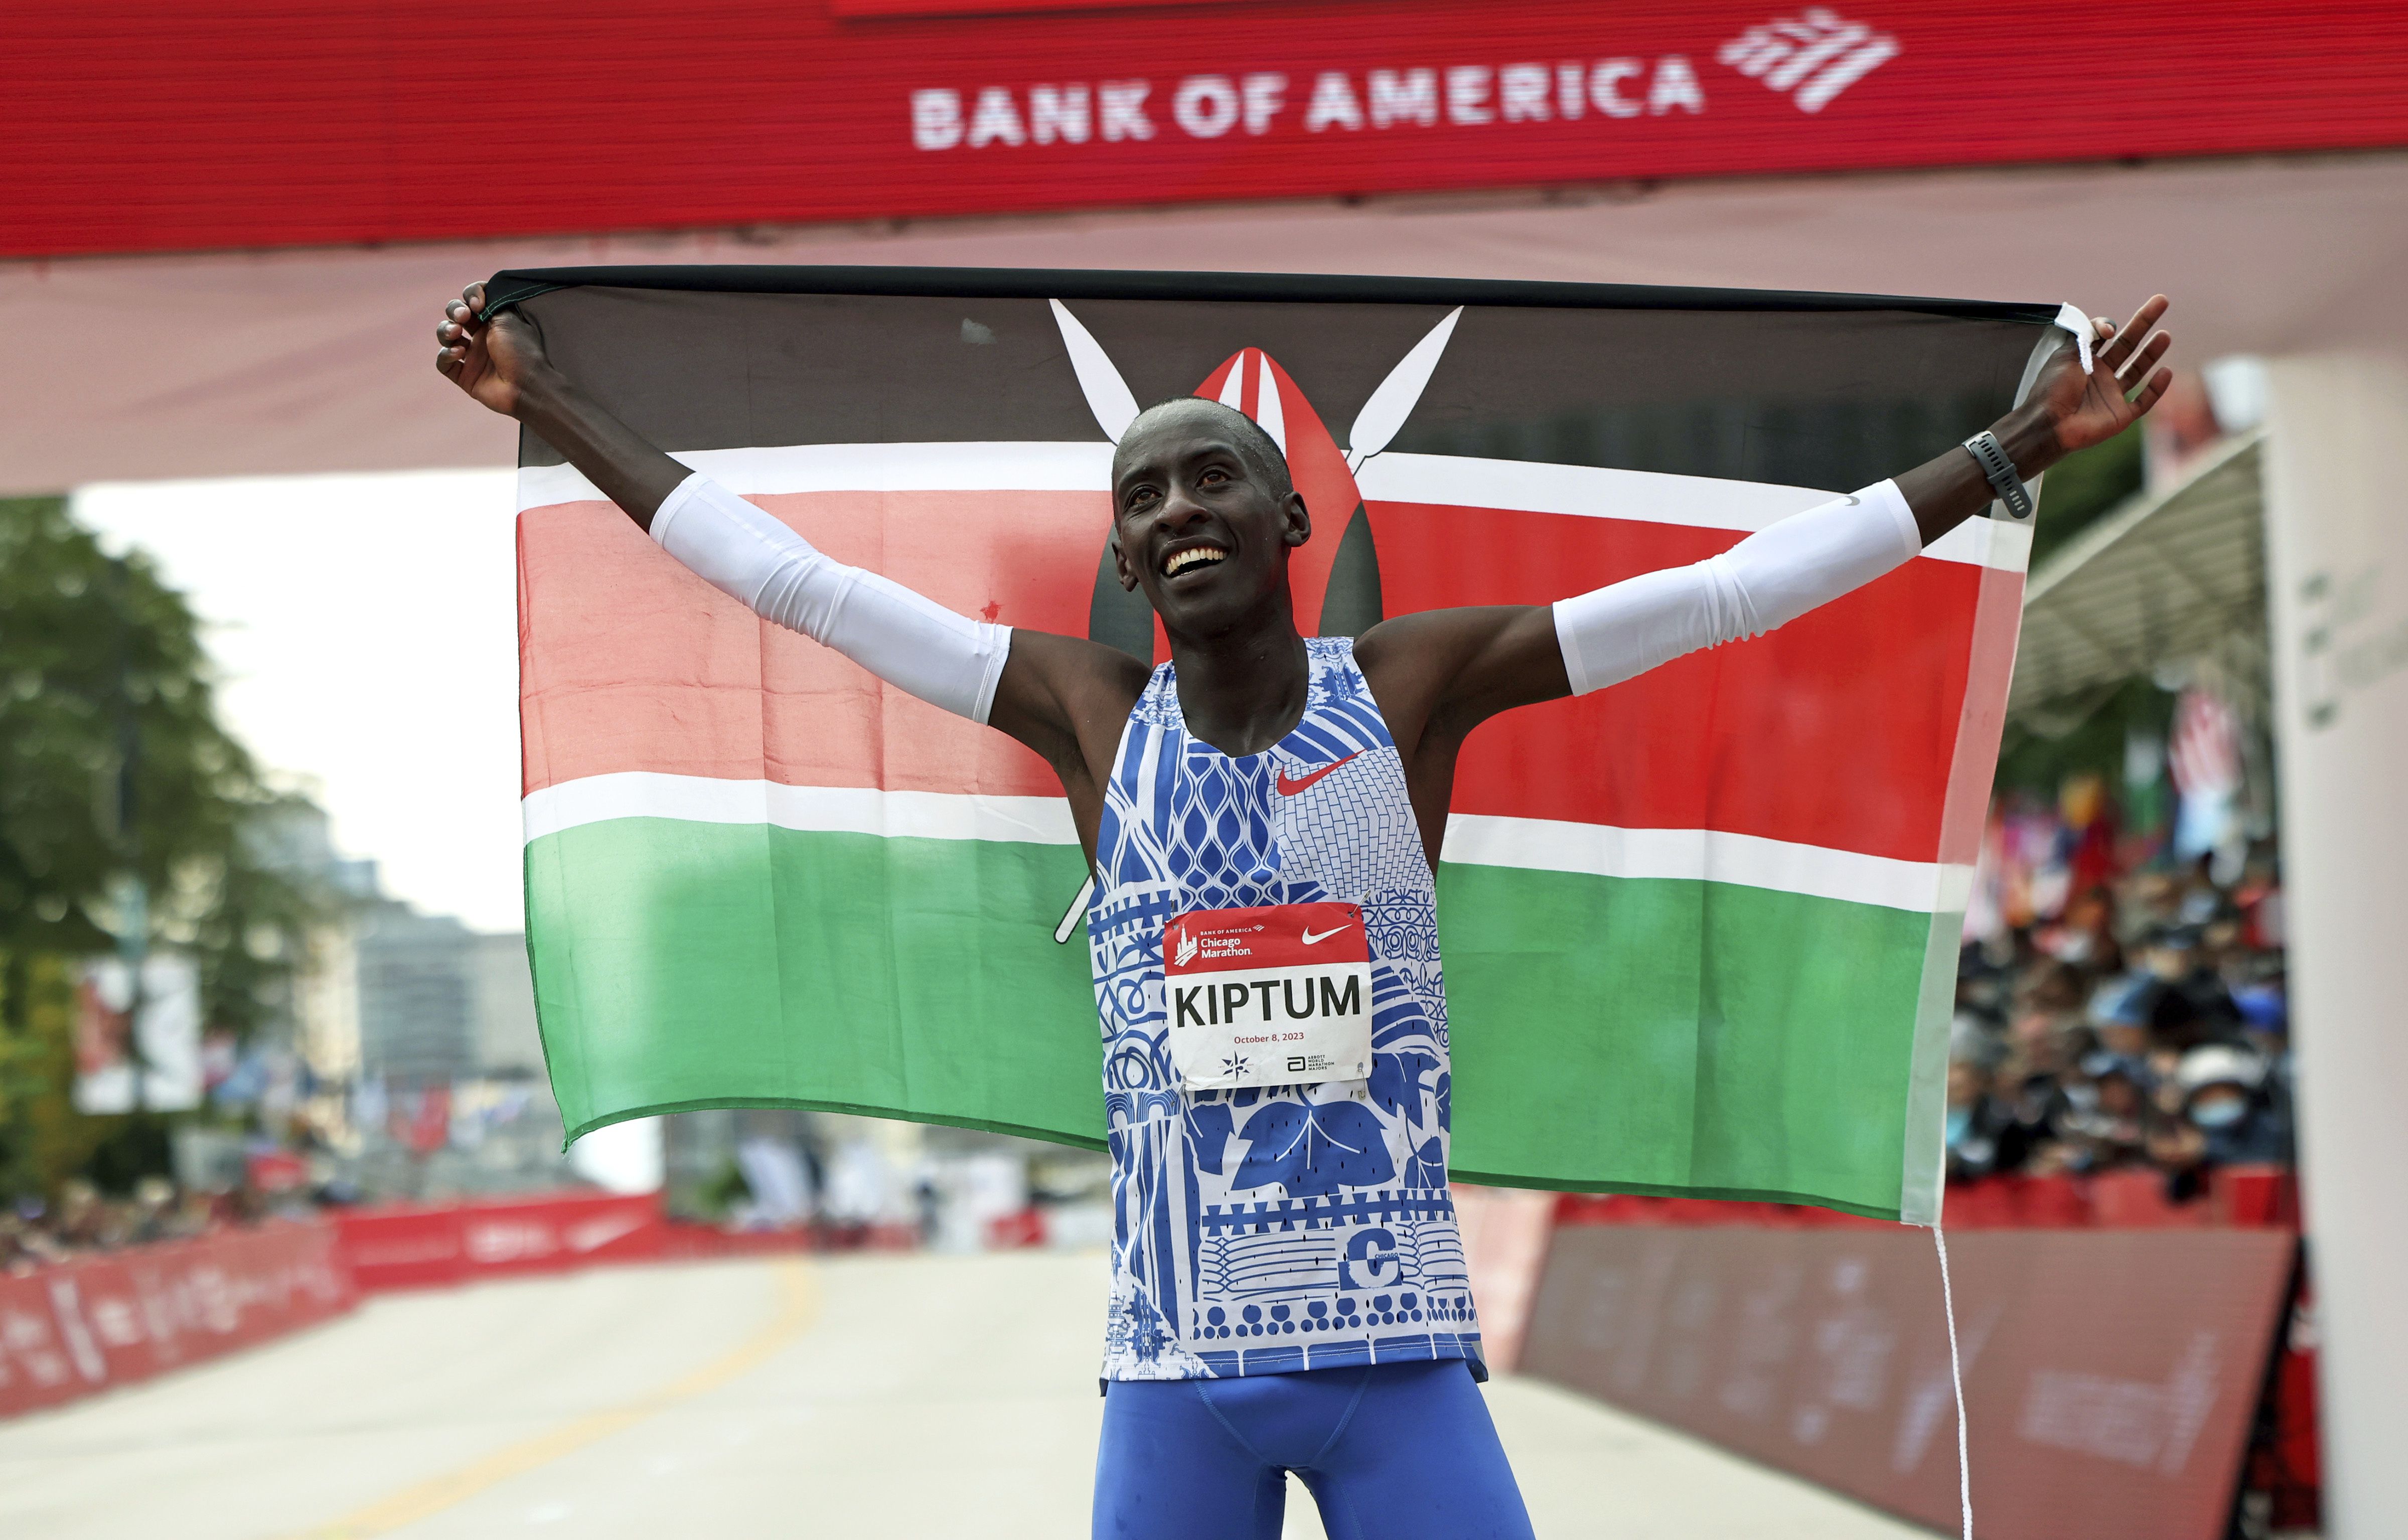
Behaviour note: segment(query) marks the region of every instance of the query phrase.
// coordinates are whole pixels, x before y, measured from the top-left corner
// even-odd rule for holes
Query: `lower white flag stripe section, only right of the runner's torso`
[[[1917,914],[1960,912],[1972,893],[1972,866],[1958,864],[1898,861],[1710,828],[1611,828],[1486,813],[1447,816],[1445,859],[1462,866],[1734,883]]]

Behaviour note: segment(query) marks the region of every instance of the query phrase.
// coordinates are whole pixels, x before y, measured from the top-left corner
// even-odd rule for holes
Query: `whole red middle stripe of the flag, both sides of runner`
[[[1103,493],[756,500],[831,556],[963,614],[1086,633]],[[1413,503],[1375,503],[1370,517],[1389,614],[1544,604],[1741,539],[1734,529]],[[544,594],[542,628],[523,638],[527,792],[624,770],[1057,792],[1026,748],[763,626],[662,558],[607,503],[523,515],[520,565],[527,587]],[[1914,561],[1767,638],[1676,659],[1584,700],[1512,712],[1474,734],[1454,808],[1941,859],[1984,585],[2003,585],[2008,599],[2020,592],[2011,573]],[[1866,732],[1869,722],[1881,732]]]

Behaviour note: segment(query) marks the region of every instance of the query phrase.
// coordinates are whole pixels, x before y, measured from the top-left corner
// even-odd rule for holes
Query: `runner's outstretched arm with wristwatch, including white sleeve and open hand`
[[[2172,371],[2158,368],[2170,337],[2150,334],[2165,296],[2102,342],[2085,373],[2066,344],[2032,395],[1991,433],[2030,481],[2073,450],[2138,421]],[[1991,500],[1972,452],[1953,448],[1895,481],[1835,498],[1751,534],[1722,556],[1645,573],[1560,604],[1447,609],[1399,616],[1363,635],[1358,657],[1380,688],[1389,729],[1409,758],[1452,751],[1476,724],[1534,700],[1553,700],[1645,674],[1683,652],[1760,635],[1912,558]]]

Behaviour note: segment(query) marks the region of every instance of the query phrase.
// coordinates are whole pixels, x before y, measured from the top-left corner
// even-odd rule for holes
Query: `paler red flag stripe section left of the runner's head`
[[[1110,496],[756,496],[814,546],[968,616],[1086,635]],[[655,770],[778,784],[1060,796],[1035,753],[751,616],[612,503],[518,520],[525,792]]]

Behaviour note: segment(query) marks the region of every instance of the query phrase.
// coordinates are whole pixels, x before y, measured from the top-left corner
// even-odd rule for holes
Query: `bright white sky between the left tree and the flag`
[[[111,481],[75,517],[183,590],[219,712],[385,893],[523,929],[515,472]]]

